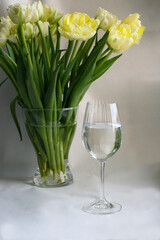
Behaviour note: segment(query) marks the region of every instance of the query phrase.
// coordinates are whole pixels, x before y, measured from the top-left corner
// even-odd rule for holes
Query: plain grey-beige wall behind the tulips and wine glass
[[[8,4],[22,1],[2,0],[0,15]],[[23,1],[29,2],[29,1]],[[31,2],[31,1],[30,1]],[[159,0],[48,0],[62,12],[80,11],[95,16],[99,6],[117,15],[141,14],[146,31],[139,45],[124,52],[112,68],[95,82],[83,98],[79,109],[76,136],[71,148],[70,162],[75,176],[82,171],[98,174],[97,163],[91,159],[81,142],[81,127],[86,102],[91,99],[116,101],[119,106],[123,144],[108,161],[109,174],[155,165],[160,169],[160,1]],[[0,70],[0,80],[5,75]],[[0,177],[30,177],[36,168],[36,157],[23,125],[21,110],[18,116],[23,142],[9,112],[15,91],[8,81],[0,89]]]

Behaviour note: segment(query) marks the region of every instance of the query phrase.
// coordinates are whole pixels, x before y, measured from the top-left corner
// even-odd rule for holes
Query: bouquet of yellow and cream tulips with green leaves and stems
[[[0,47],[0,66],[17,93],[10,104],[11,114],[22,138],[16,103],[23,109],[40,110],[38,120],[32,111],[25,116],[35,123],[35,129],[27,125],[27,131],[39,156],[40,174],[55,180],[60,176],[58,181],[63,182],[64,159],[74,135],[69,126],[76,113],[73,109],[64,116],[63,111],[55,114],[55,110],[77,107],[90,85],[121,52],[139,43],[144,31],[140,15],[131,14],[121,21],[102,8],[95,18],[78,12],[62,15],[41,1],[11,5],[7,14],[0,18],[0,45],[5,47]],[[65,49],[61,48],[62,36],[68,42]],[[112,53],[120,54],[111,57]],[[54,123],[58,125],[53,128]],[[62,132],[61,125],[68,127]]]

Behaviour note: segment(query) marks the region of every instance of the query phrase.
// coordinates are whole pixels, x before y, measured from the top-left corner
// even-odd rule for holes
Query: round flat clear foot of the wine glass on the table
[[[118,203],[110,203],[106,200],[97,200],[90,204],[85,205],[82,210],[87,213],[105,215],[119,212],[122,206]]]

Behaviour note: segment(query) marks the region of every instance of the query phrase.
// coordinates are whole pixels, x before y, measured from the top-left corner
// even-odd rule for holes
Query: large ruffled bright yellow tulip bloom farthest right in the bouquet
[[[110,27],[107,43],[115,52],[123,52],[139,43],[145,29],[139,17],[139,14],[131,14]]]

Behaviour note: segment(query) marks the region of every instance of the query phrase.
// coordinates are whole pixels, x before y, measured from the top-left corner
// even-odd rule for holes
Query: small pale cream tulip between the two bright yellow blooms
[[[107,31],[113,24],[118,22],[118,18],[112,13],[99,7],[96,15],[96,19],[100,20],[99,28]]]

